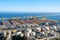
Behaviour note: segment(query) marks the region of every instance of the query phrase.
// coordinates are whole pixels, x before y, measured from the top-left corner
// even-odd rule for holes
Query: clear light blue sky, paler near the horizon
[[[0,12],[60,12],[60,0],[0,0]]]

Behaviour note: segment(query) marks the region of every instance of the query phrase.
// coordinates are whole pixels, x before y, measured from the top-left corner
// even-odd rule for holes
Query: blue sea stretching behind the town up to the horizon
[[[13,17],[20,17],[21,19],[25,19],[28,17],[38,17],[38,19],[42,19],[42,17],[45,17],[49,20],[57,20],[59,21],[57,24],[60,25],[60,13],[41,13],[41,12],[0,12],[0,18],[13,18]],[[2,20],[0,19],[0,22]]]

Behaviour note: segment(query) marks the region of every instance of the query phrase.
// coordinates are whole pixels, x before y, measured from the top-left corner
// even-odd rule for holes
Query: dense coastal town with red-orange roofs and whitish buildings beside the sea
[[[0,18],[0,40],[59,40],[60,25],[57,20],[30,17]],[[5,21],[6,20],[6,21]]]

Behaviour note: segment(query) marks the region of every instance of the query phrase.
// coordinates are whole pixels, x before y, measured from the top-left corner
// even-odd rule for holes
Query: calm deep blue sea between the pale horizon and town
[[[60,20],[60,13],[23,13],[23,12],[0,12],[0,18],[23,17],[23,16],[45,16],[46,19]]]

